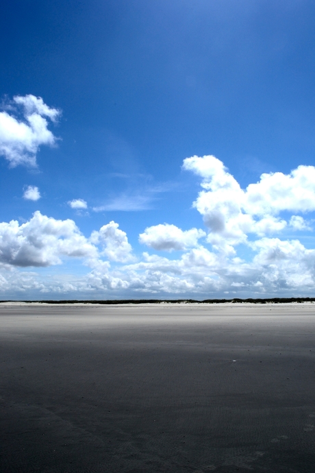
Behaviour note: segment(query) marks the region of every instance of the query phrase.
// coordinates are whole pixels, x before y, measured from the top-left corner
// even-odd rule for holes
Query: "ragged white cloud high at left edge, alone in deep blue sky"
[[[53,146],[57,139],[48,130],[45,117],[55,122],[60,110],[47,106],[41,97],[34,95],[14,97],[7,110],[0,112],[0,154],[11,167],[34,167],[40,145]]]

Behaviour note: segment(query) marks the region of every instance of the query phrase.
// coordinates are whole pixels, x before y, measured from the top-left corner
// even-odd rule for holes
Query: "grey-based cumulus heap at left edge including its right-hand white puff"
[[[0,223],[0,265],[3,267],[48,267],[62,263],[64,256],[84,258],[95,271],[106,272],[108,260],[134,260],[127,235],[111,221],[84,237],[71,219],[57,220],[38,210],[21,225],[16,220]],[[106,260],[102,259],[105,256]]]

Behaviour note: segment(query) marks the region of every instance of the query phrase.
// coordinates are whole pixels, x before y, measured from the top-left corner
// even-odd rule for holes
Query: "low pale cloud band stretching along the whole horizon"
[[[144,253],[142,260],[111,268],[97,260],[86,276],[45,280],[35,273],[16,270],[0,276],[0,291],[37,291],[85,295],[93,298],[146,294],[196,298],[234,297],[234,295],[312,294],[315,282],[315,251],[299,241],[260,239],[253,243],[255,257],[250,263],[240,258],[225,258],[205,247],[189,250],[179,259]],[[227,294],[229,294],[227,296]]]

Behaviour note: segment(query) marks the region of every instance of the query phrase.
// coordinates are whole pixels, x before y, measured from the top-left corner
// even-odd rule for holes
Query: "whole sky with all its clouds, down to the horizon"
[[[314,16],[3,2],[0,298],[314,297]]]

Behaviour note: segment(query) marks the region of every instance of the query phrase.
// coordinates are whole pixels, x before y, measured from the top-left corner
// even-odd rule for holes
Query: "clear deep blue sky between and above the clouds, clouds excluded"
[[[243,189],[262,173],[314,165],[314,17],[315,3],[300,0],[3,2],[3,104],[31,94],[62,115],[49,123],[57,147],[40,147],[37,168],[10,168],[1,158],[1,221],[25,223],[40,210],[73,219],[88,238],[114,220],[138,260],[142,251],[156,253],[138,244],[149,226],[212,232],[192,208],[201,180],[181,170],[184,158],[216,156]],[[23,199],[27,185],[41,199]],[[73,199],[88,208],[73,210]],[[303,206],[300,214],[306,218]],[[310,230],[268,238],[314,247]],[[251,251],[240,243],[242,258]],[[176,248],[157,254],[181,258]],[[88,274],[77,260],[62,260],[38,271]],[[283,284],[266,291],[291,283]],[[223,286],[221,295],[230,290]],[[294,291],[308,293],[310,284]]]

